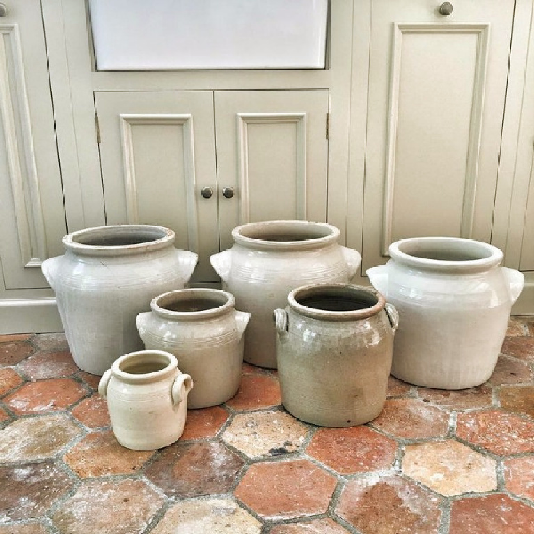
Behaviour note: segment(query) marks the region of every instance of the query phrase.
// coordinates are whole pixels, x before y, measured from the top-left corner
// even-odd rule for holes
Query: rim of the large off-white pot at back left
[[[80,239],[102,239],[107,237],[129,237],[140,235],[146,238],[143,242],[125,245],[93,245]],[[152,237],[152,239],[150,239]],[[171,228],[152,224],[115,224],[110,226],[93,226],[77,230],[63,237],[63,245],[67,251],[86,256],[129,256],[164,249],[173,244],[175,233]]]

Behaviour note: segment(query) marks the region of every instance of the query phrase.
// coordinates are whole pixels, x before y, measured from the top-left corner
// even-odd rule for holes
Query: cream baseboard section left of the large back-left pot
[[[0,333],[63,332],[54,297],[0,300]]]

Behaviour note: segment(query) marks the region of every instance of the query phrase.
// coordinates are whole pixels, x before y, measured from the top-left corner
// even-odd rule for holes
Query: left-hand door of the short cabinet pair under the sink
[[[198,253],[192,281],[217,280],[213,93],[101,91],[95,105],[107,224],[172,228],[177,248]]]

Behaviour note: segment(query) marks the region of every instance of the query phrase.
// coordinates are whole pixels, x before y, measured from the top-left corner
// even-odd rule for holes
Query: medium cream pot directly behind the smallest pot
[[[145,347],[171,352],[193,378],[189,408],[220,405],[239,389],[250,314],[234,304],[226,291],[184,289],[152,299],[152,311],[137,316]]]

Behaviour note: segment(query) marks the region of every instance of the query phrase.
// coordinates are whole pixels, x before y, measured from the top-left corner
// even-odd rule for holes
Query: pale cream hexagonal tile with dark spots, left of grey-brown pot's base
[[[308,427],[285,411],[256,411],[234,416],[222,439],[249,458],[259,458],[293,453],[306,436]]]

